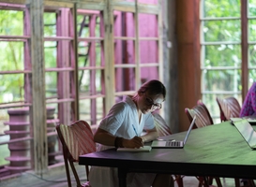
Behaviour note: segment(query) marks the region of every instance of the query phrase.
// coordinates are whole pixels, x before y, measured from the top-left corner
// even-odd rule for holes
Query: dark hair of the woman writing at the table
[[[158,79],[151,79],[144,82],[138,90],[138,93],[143,94],[145,92],[151,95],[162,94],[163,98],[165,98],[166,95],[165,86]]]

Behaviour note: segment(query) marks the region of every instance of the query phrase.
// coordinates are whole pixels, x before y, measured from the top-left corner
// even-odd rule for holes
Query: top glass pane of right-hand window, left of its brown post
[[[240,17],[240,0],[204,0],[203,17]]]

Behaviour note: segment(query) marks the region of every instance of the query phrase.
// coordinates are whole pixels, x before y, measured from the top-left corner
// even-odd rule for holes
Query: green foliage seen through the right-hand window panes
[[[237,93],[242,90],[241,83],[241,15],[240,0],[202,0],[203,18],[213,20],[203,21],[202,67],[208,68],[202,73],[203,102],[207,103],[213,116],[219,116],[216,97],[227,97],[221,92]],[[256,0],[248,0],[248,15],[256,16]],[[256,20],[248,20],[248,40],[256,41]],[[222,42],[214,45],[212,42]],[[238,42],[231,44],[230,42]],[[255,45],[249,45],[249,66],[256,67]],[[211,67],[217,69],[211,70]],[[233,69],[228,69],[231,67]],[[237,69],[238,68],[238,69]],[[249,70],[248,79],[256,80],[255,69]],[[233,94],[238,100],[241,95]],[[240,100],[241,101],[241,100]]]

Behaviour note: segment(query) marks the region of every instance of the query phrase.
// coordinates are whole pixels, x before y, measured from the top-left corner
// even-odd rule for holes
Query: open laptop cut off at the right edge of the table
[[[243,119],[239,121],[233,122],[236,129],[239,131],[242,137],[246,140],[248,143],[248,146],[252,150],[256,150],[256,132],[248,122],[248,120]]]

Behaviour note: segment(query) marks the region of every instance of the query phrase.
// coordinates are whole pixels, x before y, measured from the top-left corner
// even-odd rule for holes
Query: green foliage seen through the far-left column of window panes
[[[23,36],[23,11],[0,10],[0,35]],[[23,42],[0,41],[1,71],[23,70]],[[1,75],[0,102],[23,99],[23,75]]]

